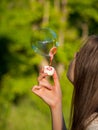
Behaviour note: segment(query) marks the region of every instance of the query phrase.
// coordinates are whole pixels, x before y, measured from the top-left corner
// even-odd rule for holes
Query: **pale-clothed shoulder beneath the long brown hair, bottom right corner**
[[[91,117],[89,118],[88,121],[92,120],[94,118],[94,120],[92,120],[90,122],[90,124],[87,126],[86,130],[98,130],[98,116],[96,116],[97,113],[94,113],[93,115],[91,115]]]

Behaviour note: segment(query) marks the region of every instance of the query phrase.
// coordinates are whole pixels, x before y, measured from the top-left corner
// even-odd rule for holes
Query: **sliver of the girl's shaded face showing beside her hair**
[[[75,69],[76,55],[77,55],[77,53],[75,53],[74,59],[71,61],[69,68],[68,68],[68,71],[67,71],[67,78],[69,79],[69,81],[72,84],[74,82],[74,69]]]

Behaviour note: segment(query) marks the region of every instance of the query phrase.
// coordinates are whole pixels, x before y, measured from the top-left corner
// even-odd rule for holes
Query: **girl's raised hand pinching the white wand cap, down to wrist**
[[[47,76],[48,75],[45,74],[43,70],[40,72],[40,75],[38,77],[39,84],[35,85],[32,88],[32,92],[34,92],[41,99],[43,99],[52,109],[57,104],[61,105],[62,94],[61,94],[60,83],[56,71],[54,71],[53,74],[54,85],[51,85],[49,83]]]

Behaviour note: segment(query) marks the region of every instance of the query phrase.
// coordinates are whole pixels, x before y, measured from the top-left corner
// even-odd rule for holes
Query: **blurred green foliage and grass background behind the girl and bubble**
[[[58,35],[55,56],[68,126],[73,86],[66,78],[74,53],[98,33],[97,0],[0,0],[0,130],[50,130],[48,106],[32,94],[46,59],[30,46],[32,30],[49,27]]]

